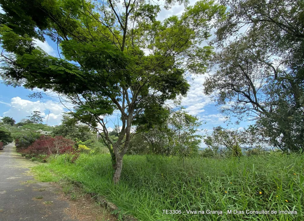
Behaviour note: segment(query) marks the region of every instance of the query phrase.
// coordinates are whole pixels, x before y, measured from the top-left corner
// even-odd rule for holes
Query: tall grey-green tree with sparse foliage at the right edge
[[[304,144],[304,5],[292,0],[223,1],[216,23],[216,68],[204,92],[225,114],[257,120],[283,151]],[[232,36],[232,37],[231,37]]]

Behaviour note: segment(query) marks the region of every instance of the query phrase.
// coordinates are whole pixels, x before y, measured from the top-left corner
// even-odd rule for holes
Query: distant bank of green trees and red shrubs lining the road
[[[41,114],[36,114],[41,117]],[[39,123],[42,121],[36,121],[37,124],[34,124],[24,119],[17,124],[6,124],[7,119],[15,122],[12,117],[5,117],[1,121],[4,123],[3,129],[0,128],[1,141],[7,145],[14,139],[17,150],[32,160],[46,162],[50,155],[55,158],[66,153],[71,154],[75,160],[81,152],[109,152],[102,139],[97,138],[96,131],[91,131],[90,127],[80,124],[68,114],[63,114],[61,124],[54,127]],[[48,135],[44,135],[43,131],[48,131]],[[116,137],[113,135],[111,139],[115,140]]]

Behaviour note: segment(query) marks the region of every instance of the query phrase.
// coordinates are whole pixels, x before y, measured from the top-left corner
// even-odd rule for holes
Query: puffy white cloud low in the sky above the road
[[[62,104],[57,104],[53,100],[41,102],[40,100],[24,100],[20,97],[13,97],[10,107],[8,111],[3,113],[3,116],[13,117],[16,122],[26,118],[36,110],[41,112],[42,117],[47,117],[48,111],[50,111],[49,125],[51,126],[60,124],[61,114],[66,111]],[[45,120],[46,118],[43,121],[45,122]]]

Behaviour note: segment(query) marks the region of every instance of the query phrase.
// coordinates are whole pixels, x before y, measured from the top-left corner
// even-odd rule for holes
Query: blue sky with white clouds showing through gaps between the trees
[[[190,4],[194,4],[195,1],[190,1]],[[1,10],[1,9],[0,9]],[[171,15],[181,15],[184,10],[183,5],[175,5],[169,11],[162,10],[158,16],[158,19],[163,20]],[[45,52],[52,56],[58,57],[57,44],[47,38],[46,42],[36,41],[36,45],[41,47]],[[209,97],[203,94],[202,83],[206,76],[189,76],[188,80],[191,84],[191,89],[187,97],[182,98],[182,105],[186,108],[189,114],[196,115],[199,120],[206,122],[200,128],[203,130],[211,131],[212,127],[223,126],[227,127],[224,123],[225,118],[219,113],[215,103],[210,100]],[[192,78],[195,78],[192,80]],[[13,117],[16,122],[19,122],[22,118],[29,116],[33,111],[38,110],[42,113],[43,117],[46,117],[50,111],[49,125],[60,124],[61,114],[67,109],[60,104],[58,98],[45,96],[41,100],[29,99],[27,97],[39,89],[34,91],[27,90],[23,87],[11,87],[5,86],[0,79],[0,116]],[[117,116],[110,117],[112,120]],[[46,119],[44,119],[45,122]],[[237,127],[245,127],[248,122],[241,122]],[[109,127],[114,128],[114,124],[109,122]],[[237,128],[235,127],[235,128]],[[204,144],[202,144],[204,146]]]

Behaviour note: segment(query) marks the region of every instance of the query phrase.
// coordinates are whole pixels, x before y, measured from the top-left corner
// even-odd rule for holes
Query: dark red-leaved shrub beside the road
[[[73,153],[75,151],[73,145],[74,141],[62,136],[56,136],[54,138],[41,136],[22,152],[32,156],[37,156],[39,154],[59,155],[64,153]]]

